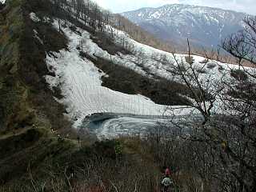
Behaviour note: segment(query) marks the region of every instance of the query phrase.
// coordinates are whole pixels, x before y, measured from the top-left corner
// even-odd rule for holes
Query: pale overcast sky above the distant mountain
[[[158,7],[166,4],[183,3],[196,6],[213,6],[226,10],[237,10],[256,14],[256,0],[94,0],[114,13],[138,10],[142,7]]]

